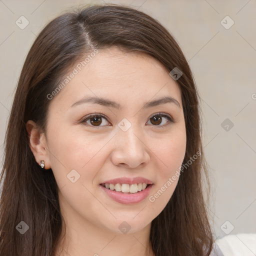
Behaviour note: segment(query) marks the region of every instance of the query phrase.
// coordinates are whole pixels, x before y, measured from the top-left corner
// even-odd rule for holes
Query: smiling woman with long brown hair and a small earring
[[[10,113],[0,256],[222,255],[198,109],[188,63],[152,17],[108,4],[53,19]]]

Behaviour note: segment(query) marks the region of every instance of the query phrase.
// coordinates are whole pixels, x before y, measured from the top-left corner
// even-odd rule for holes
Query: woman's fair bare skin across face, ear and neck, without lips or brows
[[[70,107],[87,95],[114,100],[122,109],[94,103]],[[180,107],[172,102],[141,108],[163,96],[175,98]],[[152,120],[159,112],[175,122],[164,116]],[[80,122],[93,113],[108,120],[102,117],[96,122],[100,126],[91,119]],[[131,123],[125,132],[117,125],[123,118]],[[116,47],[99,51],[53,96],[45,132],[34,124],[29,120],[26,125],[30,148],[35,160],[43,159],[44,168],[53,171],[66,223],[56,255],[148,255],[151,221],[167,204],[178,178],[153,202],[149,196],[178,170],[186,145],[180,90],[164,66],[144,53]],[[74,183],[67,178],[72,169],[80,175]],[[139,203],[122,204],[100,189],[99,183],[123,176],[150,179],[149,195]],[[125,234],[118,228],[123,221],[130,226]]]

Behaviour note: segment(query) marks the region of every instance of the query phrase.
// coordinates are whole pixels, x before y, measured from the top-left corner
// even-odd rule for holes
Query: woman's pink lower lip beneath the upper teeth
[[[143,199],[145,199],[147,197],[147,195],[149,194],[152,185],[153,184],[150,184],[144,190],[141,190],[136,193],[130,193],[130,194],[117,192],[115,190],[105,188],[104,186],[101,186],[101,185],[99,185],[99,186],[113,200],[115,200],[119,203],[123,203],[123,204],[132,204],[132,203],[138,203],[138,202],[142,201]]]

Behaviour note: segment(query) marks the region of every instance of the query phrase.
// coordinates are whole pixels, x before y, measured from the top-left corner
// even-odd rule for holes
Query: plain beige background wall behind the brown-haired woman
[[[0,0],[1,158],[13,92],[36,34],[46,22],[70,6],[89,2],[103,1]],[[215,198],[215,204],[209,206],[214,217],[215,237],[255,233],[256,1],[105,2],[127,4],[148,13],[158,19],[181,46],[202,99],[203,144]],[[21,15],[29,21],[24,29],[15,24]],[[227,15],[231,19],[224,18]],[[226,29],[223,25],[229,26],[232,20],[234,24]],[[226,118],[229,123],[223,123],[222,128]],[[2,167],[2,160],[0,164]]]

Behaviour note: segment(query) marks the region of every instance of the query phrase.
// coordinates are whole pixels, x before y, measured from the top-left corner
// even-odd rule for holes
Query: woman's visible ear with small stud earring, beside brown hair
[[[44,169],[49,169],[49,151],[44,133],[39,130],[36,123],[32,120],[26,122],[26,130],[28,133],[29,147],[34,155],[35,161],[40,164],[40,160],[44,160]]]

